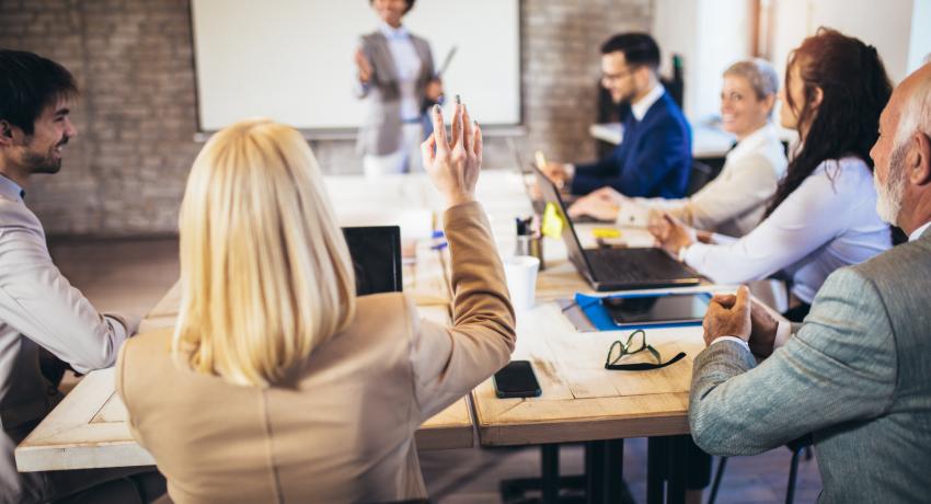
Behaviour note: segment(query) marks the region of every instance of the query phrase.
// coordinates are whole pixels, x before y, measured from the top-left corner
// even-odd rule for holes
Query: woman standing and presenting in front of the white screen
[[[356,50],[357,95],[366,103],[357,147],[369,176],[418,169],[423,106],[442,95],[429,43],[401,24],[414,1],[369,0],[381,23]]]

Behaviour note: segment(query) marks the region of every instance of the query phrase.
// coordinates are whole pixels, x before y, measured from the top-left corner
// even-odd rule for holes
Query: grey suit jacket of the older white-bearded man
[[[931,232],[818,291],[801,330],[756,364],[719,342],[694,363],[699,446],[752,455],[813,433],[819,502],[931,499]]]

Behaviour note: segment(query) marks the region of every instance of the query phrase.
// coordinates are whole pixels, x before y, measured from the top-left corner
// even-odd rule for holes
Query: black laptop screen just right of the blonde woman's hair
[[[401,228],[367,226],[343,228],[356,273],[356,296],[400,293]]]

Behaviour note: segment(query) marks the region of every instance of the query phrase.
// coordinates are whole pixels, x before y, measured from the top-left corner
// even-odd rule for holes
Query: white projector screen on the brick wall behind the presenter
[[[356,128],[353,55],[377,30],[366,0],[193,0],[202,131],[249,117],[304,130]],[[429,41],[447,96],[483,125],[520,123],[519,0],[421,0],[404,25]],[[452,100],[447,100],[447,105]]]

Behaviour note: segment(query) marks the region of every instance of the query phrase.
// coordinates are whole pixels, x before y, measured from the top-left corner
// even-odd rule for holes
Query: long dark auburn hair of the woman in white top
[[[788,92],[793,66],[804,82],[805,103],[794,103]],[[798,127],[807,126],[808,131],[802,149],[789,162],[767,217],[826,160],[855,156],[872,171],[870,149],[878,136],[880,113],[893,93],[875,47],[825,27],[792,51],[784,85],[788,105],[797,111]],[[816,89],[821,90],[823,99],[813,110]]]

